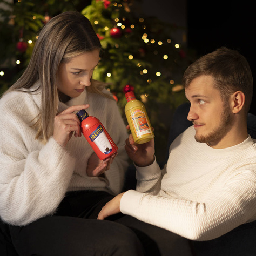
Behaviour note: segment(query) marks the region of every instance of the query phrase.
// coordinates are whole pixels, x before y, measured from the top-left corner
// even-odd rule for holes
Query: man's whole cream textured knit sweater
[[[192,240],[210,240],[256,219],[256,144],[213,149],[189,127],[170,146],[164,169],[137,167],[137,191],[120,210]]]

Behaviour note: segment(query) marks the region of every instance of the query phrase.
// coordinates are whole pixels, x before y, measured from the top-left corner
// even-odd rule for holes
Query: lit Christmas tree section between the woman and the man
[[[125,92],[134,91],[142,100],[154,126],[158,159],[163,159],[171,113],[186,101],[181,78],[191,57],[182,42],[172,38],[180,28],[146,17],[139,4],[92,0],[82,14],[91,21],[103,48],[93,78],[109,83],[108,90],[122,110]]]

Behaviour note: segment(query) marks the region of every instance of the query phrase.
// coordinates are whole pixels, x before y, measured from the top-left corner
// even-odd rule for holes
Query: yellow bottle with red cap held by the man
[[[149,142],[154,138],[154,133],[144,104],[135,98],[133,92],[126,92],[125,97],[127,103],[124,111],[134,142],[138,144]]]

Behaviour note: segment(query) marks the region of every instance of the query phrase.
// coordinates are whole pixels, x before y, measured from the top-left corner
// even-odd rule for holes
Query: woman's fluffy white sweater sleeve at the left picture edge
[[[56,210],[75,159],[53,138],[45,145],[34,139],[25,105],[8,106],[0,108],[0,215],[10,224],[26,225]]]

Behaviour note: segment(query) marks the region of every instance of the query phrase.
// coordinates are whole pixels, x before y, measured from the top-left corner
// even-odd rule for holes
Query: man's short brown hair
[[[250,66],[238,51],[220,48],[199,58],[186,69],[183,76],[185,89],[194,78],[210,75],[215,81],[223,101],[236,92],[245,95],[245,110],[248,112],[252,101],[253,77]]]

